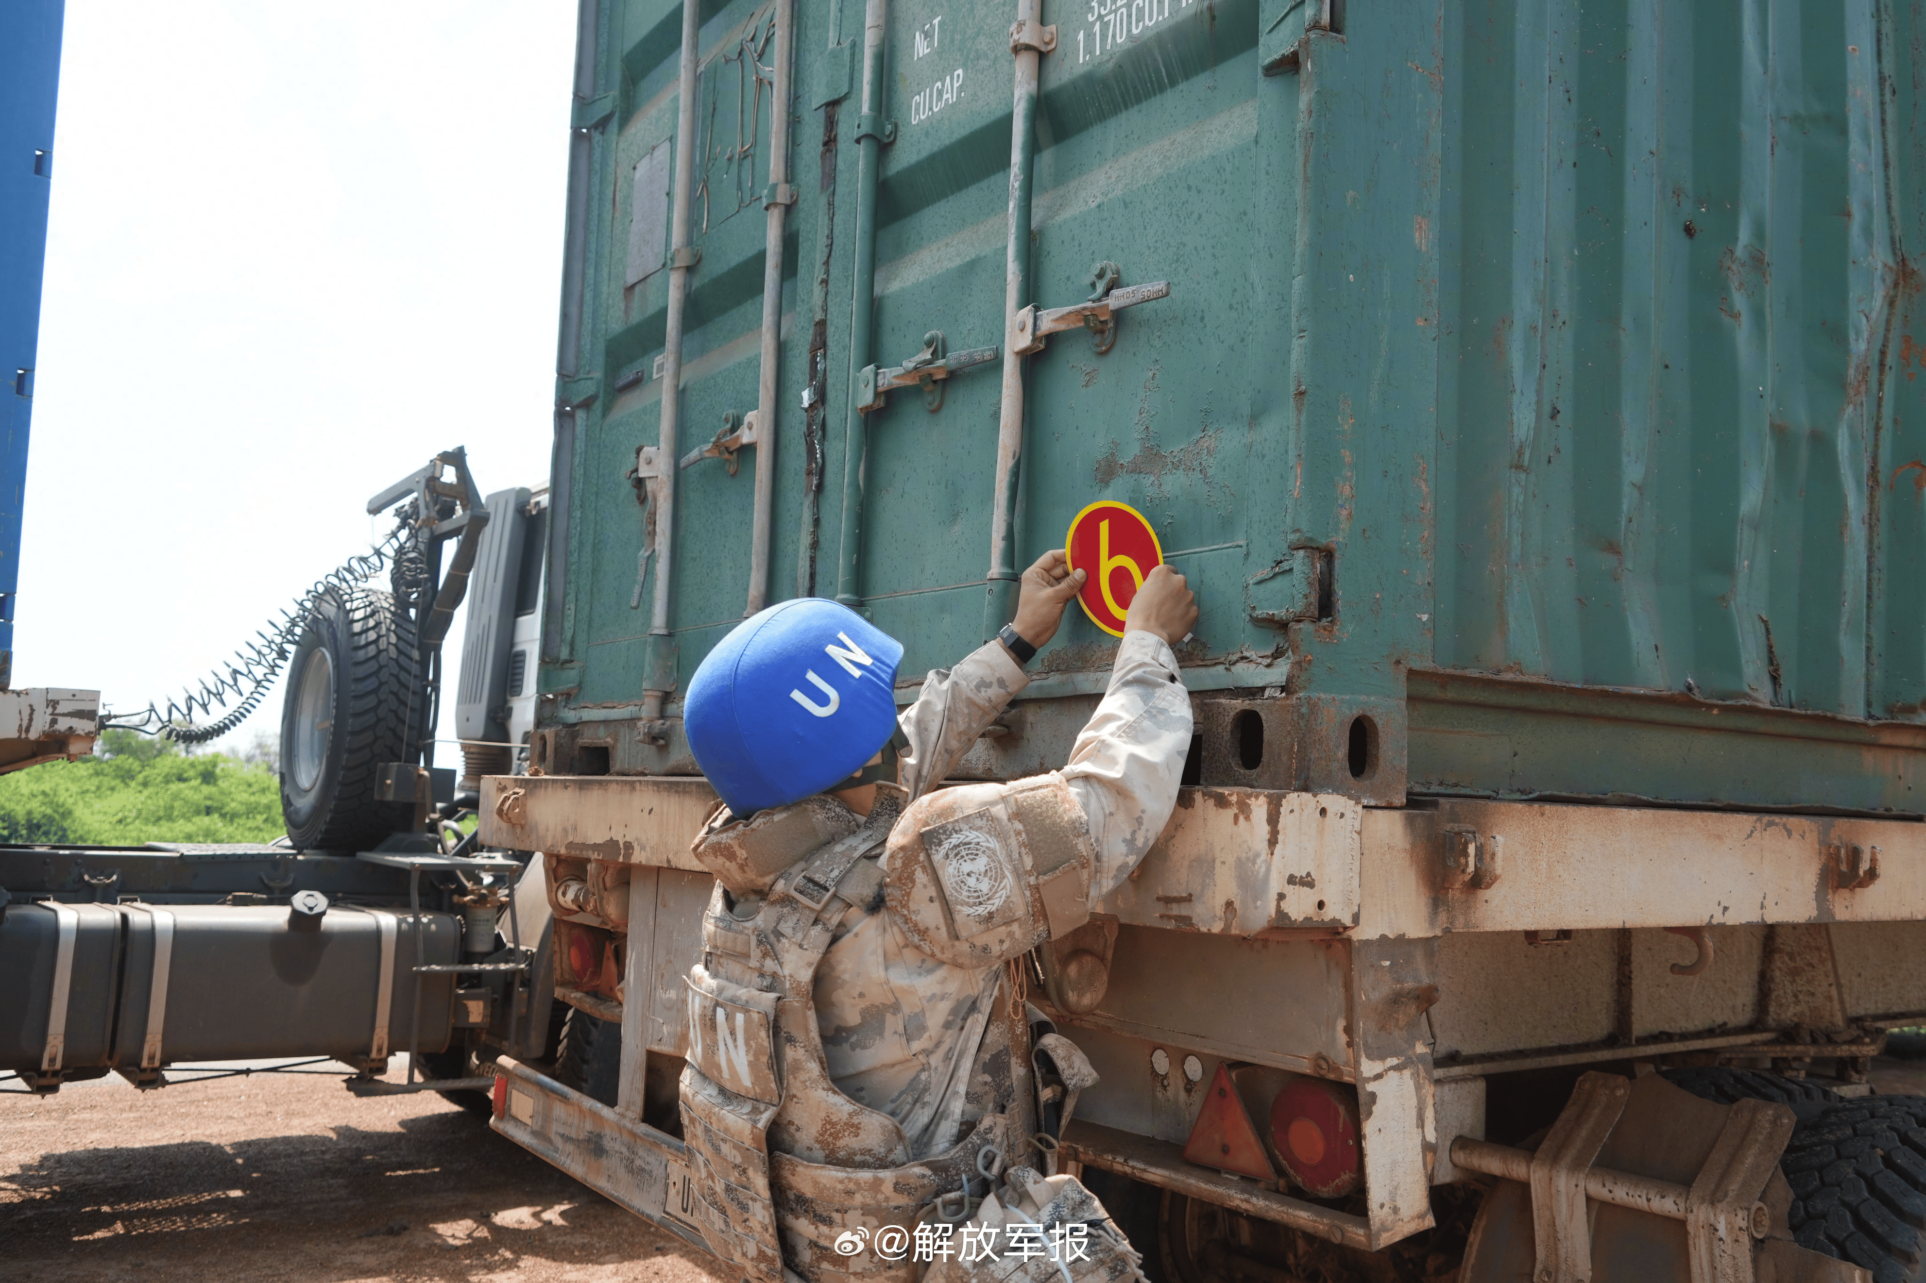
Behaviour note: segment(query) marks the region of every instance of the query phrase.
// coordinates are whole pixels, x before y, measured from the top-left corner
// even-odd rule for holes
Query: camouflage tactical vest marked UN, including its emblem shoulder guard
[[[784,1268],[805,1283],[911,1283],[915,1260],[847,1246],[911,1231],[940,1198],[961,1220],[1023,1154],[1036,1131],[1023,1004],[1007,977],[992,989],[963,1135],[919,1160],[896,1119],[830,1081],[817,968],[838,927],[884,910],[924,952],[975,968],[1080,925],[1096,856],[1082,808],[1057,775],[915,804],[880,785],[867,819],[820,796],[749,821],[718,812],[693,850],[736,887],[768,887],[757,902],[716,883],[688,977],[682,1129],[709,1248],[757,1283],[784,1283]]]

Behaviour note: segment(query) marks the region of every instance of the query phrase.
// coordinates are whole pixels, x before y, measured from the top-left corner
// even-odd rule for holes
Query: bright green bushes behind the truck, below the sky
[[[106,731],[91,758],[0,775],[0,843],[270,843],[285,829],[264,762],[133,731]]]

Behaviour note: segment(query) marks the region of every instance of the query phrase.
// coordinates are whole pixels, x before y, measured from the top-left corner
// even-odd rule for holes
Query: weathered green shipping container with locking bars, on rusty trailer
[[[682,6],[584,6],[537,764],[695,773],[757,600],[859,606],[909,700],[1115,498],[1202,606],[1194,783],[1926,810],[1920,4],[1015,15],[817,0],[784,65],[705,4],[678,156]],[[967,769],[1061,764],[1111,648],[1073,612]]]

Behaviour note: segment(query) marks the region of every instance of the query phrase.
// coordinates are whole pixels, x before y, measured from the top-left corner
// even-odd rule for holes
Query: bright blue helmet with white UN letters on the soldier
[[[896,733],[901,660],[901,642],[820,596],[761,610],[690,679],[690,752],[738,816],[822,792]]]

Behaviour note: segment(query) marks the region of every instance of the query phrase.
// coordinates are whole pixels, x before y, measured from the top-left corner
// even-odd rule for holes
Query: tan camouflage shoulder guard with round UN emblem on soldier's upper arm
[[[886,896],[911,944],[984,968],[1090,918],[1082,808],[1055,773],[919,798],[890,835]]]

